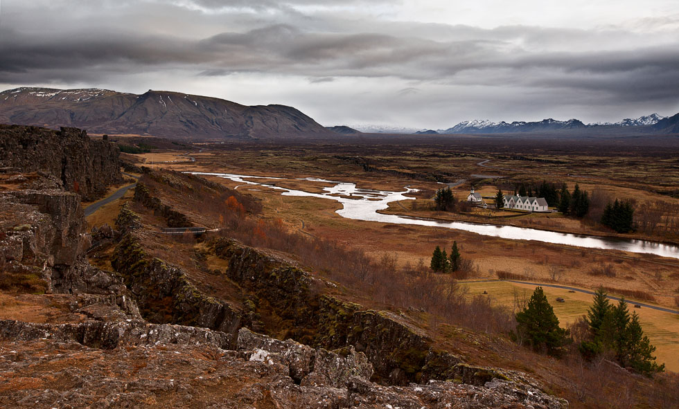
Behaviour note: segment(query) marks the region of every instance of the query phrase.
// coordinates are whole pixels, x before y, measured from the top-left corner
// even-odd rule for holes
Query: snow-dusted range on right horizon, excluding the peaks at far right
[[[533,131],[554,131],[558,129],[577,129],[587,125],[583,122],[570,120],[555,120],[552,118],[543,119],[538,122],[514,121],[511,123],[491,120],[466,120],[460,122],[452,128],[439,129],[439,134],[501,134],[504,132],[533,132]]]

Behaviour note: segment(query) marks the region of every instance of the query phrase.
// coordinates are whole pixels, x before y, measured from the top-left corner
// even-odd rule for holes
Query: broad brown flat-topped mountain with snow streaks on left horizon
[[[0,122],[166,138],[336,136],[285,105],[249,107],[220,98],[151,90],[136,95],[96,88],[11,89],[0,93]]]

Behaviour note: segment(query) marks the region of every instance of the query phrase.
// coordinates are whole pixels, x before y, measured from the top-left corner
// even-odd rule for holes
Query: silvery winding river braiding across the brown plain
[[[270,189],[280,190],[283,196],[303,196],[331,199],[342,203],[342,208],[337,210],[337,214],[348,219],[380,221],[381,223],[391,224],[414,224],[417,226],[453,228],[466,230],[479,235],[502,237],[503,239],[514,240],[536,240],[538,242],[565,244],[567,246],[579,246],[587,248],[602,248],[608,250],[630,251],[633,253],[649,253],[662,257],[679,259],[679,246],[662,244],[637,239],[617,239],[610,237],[595,237],[587,235],[575,235],[571,233],[557,233],[547,230],[537,230],[534,228],[522,228],[515,226],[497,226],[495,224],[477,224],[465,221],[436,221],[430,219],[419,219],[415,217],[405,217],[398,215],[383,215],[378,210],[389,207],[389,203],[399,200],[412,200],[406,194],[416,192],[415,189],[406,188],[403,192],[389,192],[386,190],[370,190],[356,188],[355,183],[345,183],[340,181],[329,181],[326,179],[305,178],[297,179],[302,181],[318,181],[324,183],[334,183],[332,187],[323,188],[323,193],[305,192],[281,188],[280,186],[258,182],[259,179],[283,180],[282,178],[267,176],[247,176],[240,174],[226,173],[204,173],[191,172],[206,176],[219,176],[230,179],[236,183],[244,185],[261,185]]]

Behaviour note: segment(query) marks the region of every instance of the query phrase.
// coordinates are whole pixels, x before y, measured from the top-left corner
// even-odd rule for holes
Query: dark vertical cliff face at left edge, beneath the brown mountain
[[[91,140],[76,128],[0,125],[0,169],[43,172],[86,201],[123,181],[119,153],[114,143]]]

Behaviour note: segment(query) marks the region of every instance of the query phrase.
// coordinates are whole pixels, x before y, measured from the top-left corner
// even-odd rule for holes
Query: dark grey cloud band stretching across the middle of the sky
[[[216,2],[215,2],[216,3]],[[463,28],[455,28],[459,33]],[[478,30],[469,29],[472,33]],[[488,30],[486,30],[488,31]],[[506,39],[531,37],[531,28],[497,30]],[[540,30],[544,31],[544,30]],[[512,33],[512,35],[509,35]],[[87,36],[61,33],[51,37],[22,35],[0,28],[0,81],[72,80],[81,73],[195,69],[197,75],[262,72],[305,75],[395,77],[405,80],[455,81],[461,71],[479,73],[476,82],[493,82],[493,70],[515,71],[515,81],[540,87],[587,87],[626,94],[624,84],[647,84],[649,93],[676,94],[679,54],[673,47],[607,52],[532,53],[486,33],[483,39],[434,41],[379,33],[317,33],[276,24],[244,33],[220,33],[199,40],[103,32]],[[496,37],[496,38],[492,38]],[[560,75],[554,75],[554,70]],[[522,78],[531,71],[536,77]],[[540,71],[545,71],[540,74]],[[589,80],[587,75],[592,75]],[[609,76],[601,80],[601,75]],[[37,78],[36,78],[37,76]],[[619,80],[617,80],[619,79]]]

